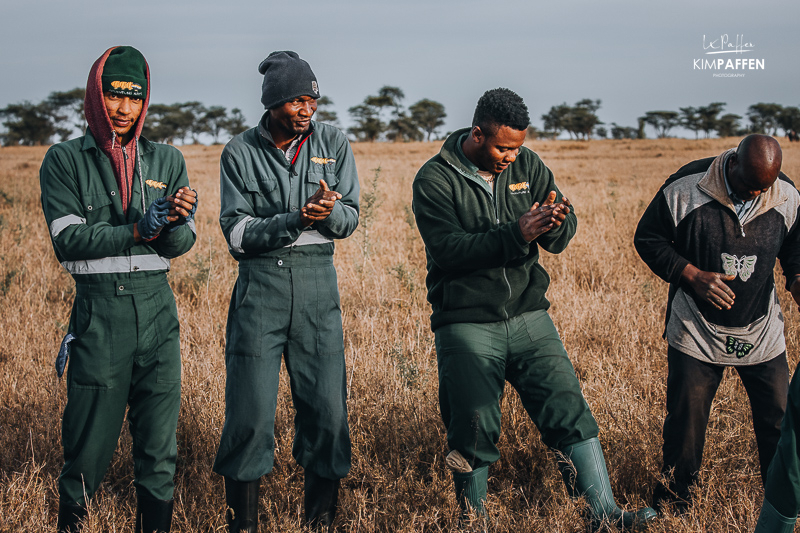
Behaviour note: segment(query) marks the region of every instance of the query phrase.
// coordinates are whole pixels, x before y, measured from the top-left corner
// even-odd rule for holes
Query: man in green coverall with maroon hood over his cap
[[[180,407],[180,333],[170,259],[194,244],[196,193],[183,156],[141,137],[147,62],[108,49],[86,86],[86,135],[48,150],[42,208],[75,301],[56,370],[67,371],[58,531],[75,532],[128,410],[136,531],[169,531]]]

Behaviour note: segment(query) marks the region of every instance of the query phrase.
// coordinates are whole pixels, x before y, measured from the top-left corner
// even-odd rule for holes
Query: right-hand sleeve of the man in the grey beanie
[[[350,143],[342,135],[342,144],[336,151],[336,176],[339,182],[333,189],[342,195],[333,206],[328,218],[314,224],[322,235],[332,239],[349,237],[358,226],[358,173]]]

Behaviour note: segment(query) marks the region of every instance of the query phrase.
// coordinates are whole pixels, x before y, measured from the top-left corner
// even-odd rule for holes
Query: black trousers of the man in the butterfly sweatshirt
[[[662,471],[669,473],[674,469],[673,489],[679,496],[688,499],[688,488],[697,479],[703,460],[711,402],[717,393],[725,367],[700,361],[671,346],[667,357],[669,377]],[[786,353],[765,363],[734,368],[750,398],[761,479],[765,482],[786,410],[789,390]]]

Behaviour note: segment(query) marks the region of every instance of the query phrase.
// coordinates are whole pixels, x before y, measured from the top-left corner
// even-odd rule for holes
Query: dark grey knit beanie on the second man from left
[[[272,52],[258,65],[264,75],[261,83],[261,103],[273,109],[298,96],[319,98],[317,77],[297,52]]]

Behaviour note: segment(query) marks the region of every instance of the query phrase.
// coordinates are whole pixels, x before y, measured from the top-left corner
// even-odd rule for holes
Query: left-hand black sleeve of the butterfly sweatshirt
[[[642,261],[658,277],[678,283],[689,261],[675,249],[676,228],[663,190],[647,206],[633,237],[633,245]]]

